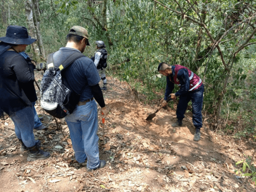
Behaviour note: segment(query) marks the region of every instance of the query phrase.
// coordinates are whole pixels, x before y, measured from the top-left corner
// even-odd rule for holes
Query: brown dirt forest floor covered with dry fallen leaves
[[[41,79],[39,72],[36,78]],[[109,89],[103,94],[109,114],[104,131],[99,116],[98,130],[100,159],[107,165],[90,173],[78,164],[64,119],[58,120],[58,130],[37,101],[47,129],[34,130],[34,135],[51,157],[28,162],[14,124],[0,120],[1,192],[234,192],[244,183],[246,178],[234,172],[235,163],[253,154],[253,141],[216,135],[204,122],[201,140],[195,142],[191,114],[180,128],[171,126],[176,111],[170,108],[146,121],[159,105],[143,104],[143,96],[125,82],[107,81]],[[255,183],[248,180],[243,191],[256,192]]]

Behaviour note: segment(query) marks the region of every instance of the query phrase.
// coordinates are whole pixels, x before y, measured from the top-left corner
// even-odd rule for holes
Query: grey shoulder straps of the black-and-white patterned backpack
[[[80,57],[85,57],[85,55],[83,55],[80,52],[75,52],[73,54],[71,54],[65,61],[63,61],[63,63],[61,63],[59,66],[54,64],[54,58],[53,58],[54,53],[51,53],[50,55],[48,55],[47,58],[47,69],[55,69],[55,71],[62,71],[63,69],[66,69],[70,64],[72,64],[74,61],[76,61],[76,59],[80,58]]]

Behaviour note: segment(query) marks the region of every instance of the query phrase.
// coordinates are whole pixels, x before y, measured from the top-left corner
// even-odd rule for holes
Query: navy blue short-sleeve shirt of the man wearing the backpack
[[[61,47],[54,53],[55,61],[63,62],[74,52],[80,52],[77,49]],[[70,66],[61,71],[61,76],[68,83],[68,86],[76,93],[80,94],[79,101],[85,101],[93,98],[90,86],[97,85],[100,82],[100,76],[95,64],[88,57],[76,59]]]

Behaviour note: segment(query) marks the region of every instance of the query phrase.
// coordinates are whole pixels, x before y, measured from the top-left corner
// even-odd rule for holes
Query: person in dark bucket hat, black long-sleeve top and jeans
[[[29,150],[27,161],[46,159],[40,141],[34,139],[34,111],[32,102],[37,100],[34,88],[34,64],[27,63],[20,55],[27,45],[36,41],[23,26],[8,26],[5,37],[0,37],[0,119],[8,116],[15,125],[15,133]]]

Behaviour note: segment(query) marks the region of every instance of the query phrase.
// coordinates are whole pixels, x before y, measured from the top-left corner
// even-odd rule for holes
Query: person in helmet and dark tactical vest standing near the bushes
[[[97,51],[94,54],[94,57],[91,59],[94,61],[95,66],[98,69],[100,78],[103,81],[103,87],[101,90],[107,90],[107,79],[106,79],[106,68],[107,68],[107,51],[104,49],[105,43],[102,40],[96,41]]]

